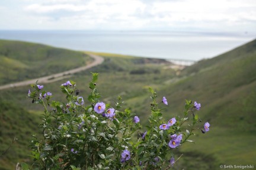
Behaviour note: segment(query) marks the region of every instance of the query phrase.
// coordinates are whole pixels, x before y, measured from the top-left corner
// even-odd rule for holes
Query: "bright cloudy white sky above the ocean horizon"
[[[256,32],[255,0],[1,0],[0,30]]]

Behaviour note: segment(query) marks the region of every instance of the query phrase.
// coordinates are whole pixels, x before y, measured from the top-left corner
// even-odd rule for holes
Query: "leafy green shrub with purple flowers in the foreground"
[[[31,85],[28,97],[44,107],[43,138],[31,141],[33,169],[169,169],[175,164],[175,149],[193,142],[188,138],[194,130],[209,131],[208,122],[196,128],[201,121],[195,112],[201,106],[191,100],[185,100],[183,116],[165,120],[159,107],[167,99],[159,102],[151,88],[151,116],[143,128],[135,113],[122,108],[120,96],[115,106],[100,100],[97,79],[98,73],[92,73],[89,102],[74,81],[60,86],[66,103],[53,101],[43,86]]]

